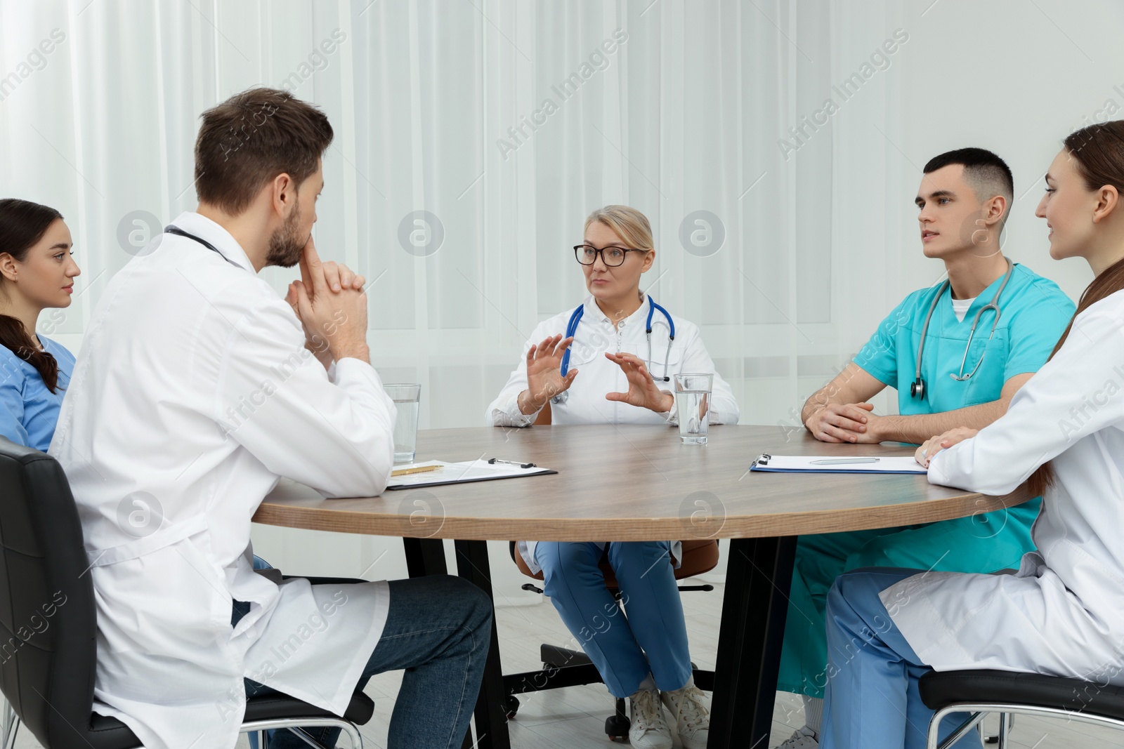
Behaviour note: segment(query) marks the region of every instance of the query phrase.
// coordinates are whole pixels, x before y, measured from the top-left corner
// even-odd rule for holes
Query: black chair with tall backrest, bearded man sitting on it
[[[4,749],[21,723],[46,749],[138,749],[114,718],[93,712],[97,619],[89,560],[74,497],[62,467],[38,450],[0,437],[0,691],[10,703]],[[330,582],[317,581],[314,582]],[[359,582],[359,581],[348,581]],[[63,600],[39,631],[45,604]],[[22,632],[22,634],[20,634]],[[344,715],[287,695],[253,697],[242,731],[335,727],[363,746],[356,725],[374,703],[356,692]],[[303,733],[303,732],[301,732]],[[319,747],[311,738],[306,740]]]

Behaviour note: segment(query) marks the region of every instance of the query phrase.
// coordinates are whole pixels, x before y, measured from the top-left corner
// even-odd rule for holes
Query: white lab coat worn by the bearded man
[[[382,492],[393,403],[374,369],[303,348],[292,309],[197,213],[109,283],[51,454],[71,483],[98,613],[94,710],[149,749],[234,747],[243,677],[342,713],[387,584],[280,586],[254,574],[250,519],[280,476]],[[224,259],[226,258],[226,259]],[[230,627],[232,601],[251,603]]]

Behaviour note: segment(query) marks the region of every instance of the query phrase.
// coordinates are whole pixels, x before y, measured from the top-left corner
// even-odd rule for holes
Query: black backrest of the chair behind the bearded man
[[[45,747],[88,746],[96,637],[66,475],[51,456],[0,437],[0,689]]]

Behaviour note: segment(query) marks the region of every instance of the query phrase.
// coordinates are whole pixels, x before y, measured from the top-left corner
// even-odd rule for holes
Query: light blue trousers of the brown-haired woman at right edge
[[[933,711],[917,681],[931,672],[894,624],[878,594],[922,569],[869,567],[836,578],[827,594],[827,689],[822,749],[923,749]],[[941,739],[967,719],[949,715]],[[966,736],[957,749],[979,747]]]

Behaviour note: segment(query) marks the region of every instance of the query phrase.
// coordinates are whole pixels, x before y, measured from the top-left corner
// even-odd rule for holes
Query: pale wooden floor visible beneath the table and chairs
[[[722,612],[722,586],[716,585],[713,593],[685,593],[683,597],[688,609],[687,627],[691,639],[691,659],[700,668],[714,668],[718,619]],[[541,603],[532,604],[540,596],[518,590],[497,592],[496,599],[499,603],[497,627],[506,673],[540,668],[542,665],[538,661],[538,646],[542,642],[565,646],[572,641],[549,601],[543,600]],[[531,605],[522,605],[524,603]],[[374,718],[362,728],[364,747],[368,749],[375,747],[383,749],[387,746],[387,724],[400,682],[401,673],[396,672],[375,676],[368,685],[366,692],[375,703]],[[605,719],[613,712],[613,701],[602,685],[532,693],[522,695],[520,702],[518,715],[508,723],[511,746],[515,748],[611,749],[624,746],[610,742],[605,736]],[[781,694],[773,712],[770,746],[787,739],[803,724],[804,715],[799,697]],[[341,747],[346,745],[346,739],[339,741]],[[1076,722],[1019,718],[1012,745],[1018,749],[1124,747],[1124,732],[1113,732]],[[676,746],[679,747],[678,741]],[[747,748],[747,745],[745,746]],[[42,749],[26,732],[21,732],[18,737],[16,747]],[[248,749],[245,737],[239,739],[238,747]]]

